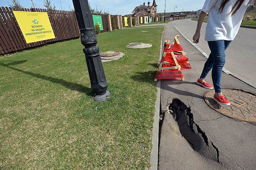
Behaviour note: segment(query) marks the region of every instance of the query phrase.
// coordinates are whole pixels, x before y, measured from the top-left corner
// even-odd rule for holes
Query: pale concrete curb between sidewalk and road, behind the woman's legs
[[[192,41],[190,41],[183,33],[181,33],[181,31],[179,31],[179,29],[175,25],[173,25],[173,26],[192,46],[194,46],[197,50],[199,50],[199,52],[201,52],[201,54],[203,54],[203,56],[208,59],[209,56],[203,50],[201,50],[201,48],[199,48],[196,44],[194,44]],[[231,76],[237,78],[238,80],[241,80],[244,83],[246,83],[246,84],[256,88],[256,84],[255,83],[252,83],[251,81],[246,80],[242,76],[239,76],[238,74],[232,73],[232,72],[228,71],[224,67],[223,67],[222,71],[225,72],[226,74],[230,74]]]

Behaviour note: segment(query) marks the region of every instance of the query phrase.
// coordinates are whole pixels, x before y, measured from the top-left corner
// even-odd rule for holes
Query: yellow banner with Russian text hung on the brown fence
[[[46,12],[13,11],[13,13],[27,44],[55,38]]]

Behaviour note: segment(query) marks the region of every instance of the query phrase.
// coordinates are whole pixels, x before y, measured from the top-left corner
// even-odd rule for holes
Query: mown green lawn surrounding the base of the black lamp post
[[[0,169],[141,169],[150,167],[163,28],[98,36],[111,98],[93,101],[79,39],[0,57]],[[160,31],[155,31],[160,30]],[[128,49],[131,42],[150,49]]]

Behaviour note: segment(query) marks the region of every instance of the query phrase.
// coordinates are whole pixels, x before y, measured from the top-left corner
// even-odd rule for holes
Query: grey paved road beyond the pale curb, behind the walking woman
[[[196,21],[178,20],[174,25],[187,38],[192,40],[196,30]],[[204,41],[205,28],[207,23],[203,23],[201,29],[201,42],[197,44],[205,53],[210,54],[207,42]],[[225,68],[232,73],[238,74],[245,80],[256,85],[256,29],[240,28],[236,39],[232,42],[226,52]]]

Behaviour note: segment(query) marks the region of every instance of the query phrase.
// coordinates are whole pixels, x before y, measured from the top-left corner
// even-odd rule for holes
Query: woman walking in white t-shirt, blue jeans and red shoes
[[[245,11],[250,4],[256,7],[256,0],[206,0],[199,15],[193,42],[199,43],[201,26],[206,13],[209,12],[205,41],[208,42],[211,54],[205,62],[197,84],[206,89],[213,89],[210,83],[205,81],[207,74],[212,69],[214,100],[220,105],[230,105],[229,100],[221,93],[221,74],[225,65],[225,50],[236,37]]]

